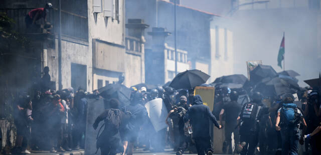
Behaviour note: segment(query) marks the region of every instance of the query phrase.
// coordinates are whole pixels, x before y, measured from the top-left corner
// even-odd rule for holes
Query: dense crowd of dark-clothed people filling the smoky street
[[[50,90],[49,68],[44,71],[42,90],[34,97],[21,92],[15,106],[14,151],[26,154],[30,149],[64,152],[84,148],[88,99],[99,98],[99,90]],[[194,95],[194,89],[130,89],[130,104],[121,106],[118,98],[104,98],[105,111],[92,125],[98,129],[104,121],[96,142],[101,154],[131,155],[137,147],[151,152],[174,148],[177,155],[188,151],[212,154],[212,139],[218,134],[213,133],[212,124],[225,129],[222,151],[226,154],[298,154],[299,143],[304,144],[306,153],[321,154],[317,147],[321,139],[320,95],[310,87],[297,92],[302,103],[297,105],[291,93],[271,97],[258,91],[246,92],[251,101],[241,104],[239,95],[245,90],[218,86],[212,111],[200,95]],[[168,127],[158,131],[144,106],[156,98],[162,98],[168,111],[164,120]]]

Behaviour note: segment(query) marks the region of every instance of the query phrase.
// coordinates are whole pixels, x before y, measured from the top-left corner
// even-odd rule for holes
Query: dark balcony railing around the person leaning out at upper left
[[[40,33],[42,32],[40,27],[36,30],[27,29],[25,23],[25,17],[27,13],[34,8],[0,8],[0,12],[6,12],[7,15],[16,21],[14,26],[17,32],[26,33]],[[59,29],[59,11],[54,8],[47,14],[47,22],[50,22],[53,27],[51,33],[57,33]],[[36,24],[44,24],[40,19]],[[88,41],[88,18],[71,12],[61,11],[61,28],[62,35],[73,37],[75,39],[81,39]]]

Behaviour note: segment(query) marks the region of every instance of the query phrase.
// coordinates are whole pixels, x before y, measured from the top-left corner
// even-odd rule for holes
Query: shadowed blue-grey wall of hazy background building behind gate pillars
[[[142,18],[149,28],[145,29],[146,48],[152,48],[152,39],[146,32],[151,27],[167,28],[172,35],[166,38],[174,47],[174,4],[164,0],[126,0],[126,18]],[[210,57],[210,19],[213,15],[183,6],[177,7],[177,47],[189,52],[188,59]]]

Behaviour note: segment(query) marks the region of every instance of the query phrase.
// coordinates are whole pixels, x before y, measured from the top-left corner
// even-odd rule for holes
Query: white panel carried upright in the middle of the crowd
[[[168,125],[165,123],[165,119],[168,115],[167,108],[162,98],[156,98],[148,101],[145,104],[148,112],[148,117],[154,126],[156,132],[166,128]]]

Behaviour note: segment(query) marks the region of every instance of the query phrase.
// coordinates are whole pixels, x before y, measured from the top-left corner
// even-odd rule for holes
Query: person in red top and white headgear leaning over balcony
[[[47,2],[45,7],[35,8],[29,11],[25,17],[27,28],[35,24],[35,22],[41,18],[43,18],[44,21],[47,22],[47,13],[49,12],[50,8],[52,8],[52,4],[50,2]]]

